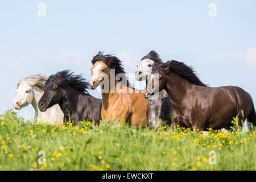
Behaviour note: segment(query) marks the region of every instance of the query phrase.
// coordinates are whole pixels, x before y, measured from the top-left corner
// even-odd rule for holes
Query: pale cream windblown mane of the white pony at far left
[[[26,78],[23,78],[22,80],[19,81],[19,83],[17,84],[17,89],[19,88],[19,85],[22,83],[26,83],[30,86],[36,86],[39,89],[43,90],[44,86],[46,85],[46,81],[47,81],[47,77],[44,75],[31,75],[28,76]]]

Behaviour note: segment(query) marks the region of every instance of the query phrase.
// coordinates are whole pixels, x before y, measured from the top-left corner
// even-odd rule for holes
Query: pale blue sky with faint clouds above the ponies
[[[208,15],[210,3],[216,17]],[[72,69],[89,80],[98,51],[117,55],[133,74],[152,49],[164,61],[192,65],[209,86],[240,86],[255,103],[255,10],[253,0],[1,1],[0,111],[13,107],[16,84],[28,75]],[[18,113],[34,117],[31,106]]]

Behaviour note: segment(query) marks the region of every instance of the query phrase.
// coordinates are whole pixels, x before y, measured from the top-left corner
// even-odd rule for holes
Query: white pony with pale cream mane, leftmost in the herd
[[[32,75],[21,80],[16,89],[17,97],[13,102],[15,109],[22,109],[31,104],[35,109],[36,123],[48,123],[49,125],[62,125],[63,111],[59,105],[53,105],[46,112],[38,109],[38,101],[43,96],[44,85],[47,77],[42,75]]]

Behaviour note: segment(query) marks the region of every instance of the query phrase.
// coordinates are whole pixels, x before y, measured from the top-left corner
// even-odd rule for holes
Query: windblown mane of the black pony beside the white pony
[[[64,70],[61,72],[57,72],[55,75],[51,75],[46,81],[46,85],[48,84],[48,82],[51,81],[55,82],[62,88],[71,86],[73,89],[76,89],[79,92],[89,95],[88,81],[86,81],[86,79],[82,77],[82,75],[74,75],[74,73],[69,70]]]

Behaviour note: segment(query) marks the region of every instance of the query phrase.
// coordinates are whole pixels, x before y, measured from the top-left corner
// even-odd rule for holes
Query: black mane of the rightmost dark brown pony
[[[169,69],[168,71],[166,71],[164,68],[168,67]],[[167,61],[166,63],[156,63],[153,66],[153,71],[154,70],[164,71],[166,73],[175,73],[176,75],[179,75],[180,77],[191,82],[192,84],[207,86],[199,79],[199,77],[196,76],[196,72],[193,70],[192,67],[189,67],[179,61],[171,60]]]

